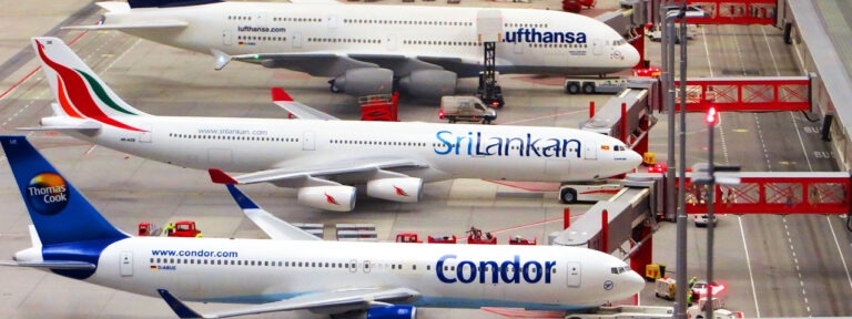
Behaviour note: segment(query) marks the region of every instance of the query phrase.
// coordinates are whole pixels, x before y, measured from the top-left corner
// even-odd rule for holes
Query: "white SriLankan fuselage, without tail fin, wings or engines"
[[[140,133],[103,125],[69,134],[179,166],[257,172],[408,158],[428,167],[394,168],[424,182],[450,178],[567,182],[622,174],[639,164],[610,136],[558,127],[232,117],[123,116]],[[352,161],[352,162],[348,162]],[[364,183],[369,179],[352,176]]]

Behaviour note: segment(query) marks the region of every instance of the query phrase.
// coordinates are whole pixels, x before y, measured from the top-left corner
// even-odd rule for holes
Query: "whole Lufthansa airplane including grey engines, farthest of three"
[[[500,35],[496,64],[504,74],[606,74],[639,62],[616,30],[561,11],[331,0],[128,2],[100,2],[108,11],[102,23],[70,28],[120,30],[212,54],[216,69],[236,60],[328,76],[332,92],[356,96],[389,93],[394,83],[414,96],[453,94],[458,76],[483,71],[484,30]]]

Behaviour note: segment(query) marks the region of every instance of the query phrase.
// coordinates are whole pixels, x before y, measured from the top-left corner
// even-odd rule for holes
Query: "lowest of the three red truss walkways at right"
[[[718,176],[718,175],[717,175]],[[848,173],[739,173],[738,185],[716,185],[719,214],[849,214]],[[707,186],[687,184],[687,214],[707,213]]]

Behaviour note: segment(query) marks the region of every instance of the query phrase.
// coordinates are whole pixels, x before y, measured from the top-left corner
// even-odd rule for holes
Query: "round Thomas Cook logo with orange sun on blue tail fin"
[[[61,175],[52,172],[40,173],[30,179],[24,189],[30,207],[41,215],[55,215],[68,206],[69,187]]]

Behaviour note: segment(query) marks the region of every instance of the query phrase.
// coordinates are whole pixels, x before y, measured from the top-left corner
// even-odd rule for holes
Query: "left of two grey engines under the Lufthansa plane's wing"
[[[351,69],[328,83],[335,93],[354,96],[390,94],[394,89],[394,71],[381,68]]]

